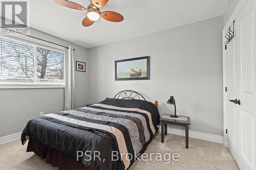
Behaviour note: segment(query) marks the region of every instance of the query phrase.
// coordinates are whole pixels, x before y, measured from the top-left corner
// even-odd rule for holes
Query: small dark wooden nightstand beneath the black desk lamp
[[[170,117],[169,114],[164,114],[160,118],[161,125],[161,142],[164,142],[164,135],[167,135],[167,125],[182,126],[185,128],[186,148],[188,149],[188,129],[190,125],[190,117],[179,116],[178,118]]]

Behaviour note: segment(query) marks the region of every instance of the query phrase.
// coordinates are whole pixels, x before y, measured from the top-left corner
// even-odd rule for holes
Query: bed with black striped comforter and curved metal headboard
[[[113,99],[29,120],[22,144],[29,140],[27,152],[61,170],[129,169],[157,131],[157,107],[157,101],[124,90]]]

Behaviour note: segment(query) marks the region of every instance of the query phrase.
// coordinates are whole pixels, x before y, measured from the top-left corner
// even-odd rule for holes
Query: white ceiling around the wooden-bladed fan
[[[71,1],[84,7],[90,3]],[[90,48],[221,16],[229,1],[109,0],[100,10],[119,12],[124,20],[115,23],[100,18],[91,27],[83,27],[86,11],[59,6],[54,0],[33,0],[29,1],[30,27]]]

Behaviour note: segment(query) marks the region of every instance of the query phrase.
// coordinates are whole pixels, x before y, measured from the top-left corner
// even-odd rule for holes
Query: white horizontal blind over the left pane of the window
[[[34,80],[34,46],[1,37],[0,81]]]

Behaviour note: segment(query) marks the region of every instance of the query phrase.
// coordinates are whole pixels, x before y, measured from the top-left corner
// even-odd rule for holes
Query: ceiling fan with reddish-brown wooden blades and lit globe
[[[55,0],[55,2],[61,6],[75,9],[75,10],[87,10],[87,17],[82,20],[82,25],[84,27],[89,27],[93,25],[94,21],[98,20],[101,16],[105,20],[112,22],[121,22],[123,16],[114,11],[103,11],[100,12],[101,7],[104,7],[109,0],[89,0],[91,2],[87,8],[84,8],[82,5],[68,1],[68,0]]]

